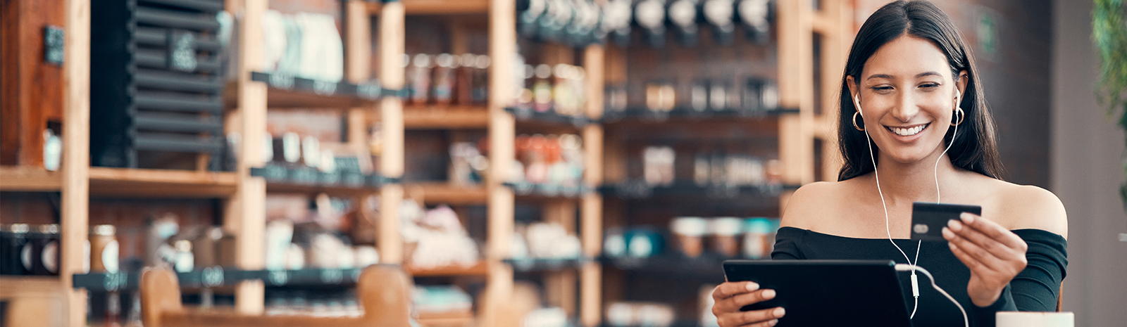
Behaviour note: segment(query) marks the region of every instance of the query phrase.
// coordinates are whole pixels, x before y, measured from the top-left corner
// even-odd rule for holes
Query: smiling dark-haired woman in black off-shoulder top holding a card
[[[977,73],[934,4],[896,1],[869,17],[842,78],[838,181],[795,192],[772,258],[911,262],[932,272],[971,325],[993,326],[996,311],[1053,311],[1067,265],[1064,206],[1044,189],[999,180]],[[980,206],[982,216],[951,220],[948,242],[907,239],[912,202],[939,200]],[[962,326],[953,303],[920,289],[915,326]],[[712,311],[722,327],[774,326],[786,321],[783,308],[739,311],[774,296],[753,282],[727,282],[712,292]]]

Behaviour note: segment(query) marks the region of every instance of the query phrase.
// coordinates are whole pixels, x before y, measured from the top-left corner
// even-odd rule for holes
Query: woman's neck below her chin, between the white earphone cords
[[[942,158],[940,158],[942,156]],[[935,161],[939,161],[938,169]],[[914,163],[898,163],[884,154],[878,161],[877,173],[885,201],[889,205],[912,203],[916,201],[937,202],[935,179],[942,194],[950,194],[949,181],[957,173],[950,157],[940,151]]]

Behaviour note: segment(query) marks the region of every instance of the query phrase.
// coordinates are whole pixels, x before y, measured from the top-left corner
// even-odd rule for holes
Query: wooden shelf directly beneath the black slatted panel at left
[[[90,167],[90,196],[108,198],[227,198],[238,174],[172,170]]]

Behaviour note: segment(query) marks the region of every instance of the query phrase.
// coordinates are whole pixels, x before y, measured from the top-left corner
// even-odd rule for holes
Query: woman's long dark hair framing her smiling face
[[[935,4],[928,1],[900,0],[885,4],[873,12],[853,39],[853,47],[850,49],[849,62],[845,63],[845,73],[842,76],[837,144],[845,164],[837,173],[837,180],[849,180],[873,170],[864,131],[853,128],[852,119],[857,108],[853,107],[846,78],[853,76],[853,80],[860,83],[861,71],[869,57],[881,46],[902,35],[931,40],[942,49],[951,67],[952,78],[958,79],[960,71],[967,72],[969,81],[959,102],[959,107],[966,112],[966,118],[959,125],[960,133],[956,139],[951,139],[952,129],[948,129],[944,140],[947,144],[951,142],[955,144],[947,154],[951,158],[951,164],[957,167],[1000,179],[1002,163],[997,155],[994,119],[986,109],[978,69],[966,43],[951,24],[951,19]],[[872,147],[876,148],[877,145],[872,144]]]

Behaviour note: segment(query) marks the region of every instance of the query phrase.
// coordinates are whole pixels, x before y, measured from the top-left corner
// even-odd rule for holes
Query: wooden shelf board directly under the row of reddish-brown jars
[[[489,127],[489,110],[481,106],[403,108],[407,129],[485,129]]]

